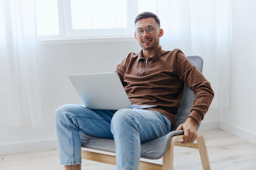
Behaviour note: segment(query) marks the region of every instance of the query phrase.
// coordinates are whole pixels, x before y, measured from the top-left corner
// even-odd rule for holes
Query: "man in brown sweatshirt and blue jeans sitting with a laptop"
[[[164,136],[174,124],[184,82],[195,92],[191,113],[177,130],[184,130],[182,143],[196,139],[196,125],[204,118],[214,92],[202,73],[180,50],[164,51],[159,18],[150,12],[135,18],[135,38],[142,50],[129,53],[116,68],[132,104],[156,104],[146,110],[90,110],[66,104],[56,110],[56,132],[61,164],[81,169],[79,131],[100,138],[114,138],[117,169],[139,169],[140,143]]]

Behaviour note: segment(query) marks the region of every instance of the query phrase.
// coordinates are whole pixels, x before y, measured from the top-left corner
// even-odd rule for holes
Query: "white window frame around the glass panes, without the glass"
[[[138,15],[138,0],[127,0],[127,28],[72,29],[70,0],[58,0],[59,35],[38,36],[39,40],[74,38],[131,38],[134,36],[134,18]]]

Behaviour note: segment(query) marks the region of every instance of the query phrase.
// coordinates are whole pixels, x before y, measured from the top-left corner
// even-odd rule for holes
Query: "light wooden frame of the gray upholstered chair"
[[[205,144],[204,134],[202,132],[197,133],[196,143],[182,144],[184,135],[173,136],[170,145],[166,153],[163,156],[163,165],[154,164],[150,162],[140,161],[140,170],[173,170],[173,150],[174,146],[182,146],[186,148],[195,148],[199,150],[202,166],[204,170],[211,169],[209,155]],[[102,153],[89,152],[82,150],[82,159],[93,160],[106,164],[116,165],[116,157],[113,155],[106,155]]]

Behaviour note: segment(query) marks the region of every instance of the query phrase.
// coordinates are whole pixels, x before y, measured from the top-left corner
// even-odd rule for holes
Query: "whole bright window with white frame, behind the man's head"
[[[36,0],[39,39],[129,37],[141,11],[156,0]]]

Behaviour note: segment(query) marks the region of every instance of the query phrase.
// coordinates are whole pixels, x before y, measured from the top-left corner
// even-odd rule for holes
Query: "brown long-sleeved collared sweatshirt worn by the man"
[[[197,123],[204,118],[214,96],[209,81],[179,49],[164,51],[159,47],[147,60],[142,50],[131,52],[118,64],[116,73],[132,104],[156,104],[148,109],[162,113],[173,125],[184,82],[195,93],[189,117]]]

